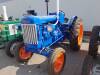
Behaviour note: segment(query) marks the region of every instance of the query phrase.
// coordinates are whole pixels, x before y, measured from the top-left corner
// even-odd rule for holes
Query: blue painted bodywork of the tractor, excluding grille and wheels
[[[64,38],[71,39],[70,33],[65,33],[64,31],[69,31],[72,28],[76,18],[77,16],[73,16],[67,23],[64,23],[65,14],[60,12],[59,22],[55,25],[57,21],[56,15],[23,17],[21,23],[27,25],[36,24],[36,32],[38,34],[38,44],[25,43],[25,50],[49,57],[52,52],[50,46],[59,41],[62,42]],[[48,27],[51,27],[52,31],[49,31]]]

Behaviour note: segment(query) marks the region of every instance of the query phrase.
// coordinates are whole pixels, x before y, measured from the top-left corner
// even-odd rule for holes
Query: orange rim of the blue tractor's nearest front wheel
[[[64,65],[64,53],[61,52],[57,55],[55,61],[54,61],[54,71],[56,73],[60,72]]]

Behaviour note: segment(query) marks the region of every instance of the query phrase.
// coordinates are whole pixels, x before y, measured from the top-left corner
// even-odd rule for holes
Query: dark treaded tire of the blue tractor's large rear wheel
[[[82,22],[80,18],[77,18],[73,23],[74,25],[71,29],[70,49],[72,51],[79,51],[81,47],[80,45],[78,45],[78,35],[77,32],[75,31],[75,28],[78,26],[79,21]]]

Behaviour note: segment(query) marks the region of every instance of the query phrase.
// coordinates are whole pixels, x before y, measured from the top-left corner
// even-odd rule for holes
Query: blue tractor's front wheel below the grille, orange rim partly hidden
[[[19,43],[17,45],[15,51],[16,51],[15,57],[16,57],[17,61],[22,62],[22,63],[27,62],[32,56],[32,52],[25,51],[23,43]]]

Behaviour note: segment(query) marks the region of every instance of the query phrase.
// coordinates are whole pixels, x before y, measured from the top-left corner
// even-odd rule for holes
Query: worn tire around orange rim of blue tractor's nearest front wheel
[[[61,48],[61,47],[58,47],[58,48],[56,47],[56,48],[54,49],[54,52],[51,54],[50,59],[48,60],[48,71],[49,71],[48,75],[60,75],[61,72],[62,72],[63,69],[64,69],[64,65],[65,65],[65,62],[66,62],[66,53],[65,53],[65,50],[64,50],[63,48],[61,48],[61,49],[63,49],[63,52],[64,52],[64,65],[63,65],[62,70],[61,70],[59,73],[55,73],[55,72],[54,72],[53,62],[54,62],[54,60],[55,60],[56,55],[57,55],[59,52],[61,52],[61,50],[60,50],[59,48]]]

